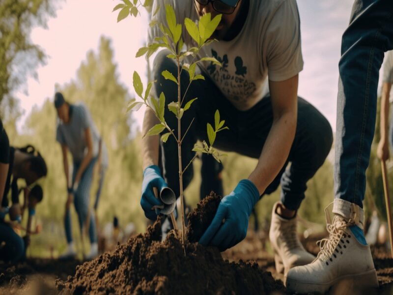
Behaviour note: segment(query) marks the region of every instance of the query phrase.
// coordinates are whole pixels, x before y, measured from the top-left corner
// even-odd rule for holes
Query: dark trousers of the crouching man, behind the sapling
[[[173,82],[164,79],[161,73],[168,70],[177,76],[177,66],[172,59],[166,57],[167,55],[166,51],[160,52],[154,60],[153,69],[154,79],[157,80],[156,93],[160,94],[163,91],[168,104],[177,100],[177,87]],[[217,134],[214,147],[259,158],[273,123],[270,96],[264,97],[248,111],[239,111],[225,98],[225,95],[207,75],[204,77],[206,81],[198,80],[191,84],[184,102],[186,103],[195,97],[198,98],[182,118],[182,134],[195,118],[182,144],[183,169],[195,155],[192,148],[197,140],[208,142],[206,123],[210,122],[214,125],[214,113],[217,109],[229,130]],[[183,71],[181,76],[182,93],[185,93],[189,80],[188,73]],[[177,118],[168,108],[165,109],[164,116],[168,125],[175,129],[175,134],[177,134]],[[311,104],[299,97],[296,135],[289,157],[265,193],[272,193],[281,183],[282,203],[290,209],[298,209],[305,197],[306,183],[325,161],[332,141],[332,129],[327,119]],[[167,143],[161,144],[160,153],[163,176],[169,187],[179,196],[177,143],[172,136],[169,137]],[[291,165],[286,169],[288,162],[291,162]],[[254,167],[250,167],[250,173],[253,169]],[[190,165],[183,175],[184,188],[190,183],[192,177],[193,168]]]

